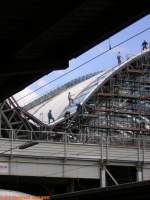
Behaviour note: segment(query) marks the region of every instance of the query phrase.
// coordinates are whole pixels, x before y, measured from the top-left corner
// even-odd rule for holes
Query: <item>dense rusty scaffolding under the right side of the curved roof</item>
[[[150,137],[150,54],[112,73],[82,106],[82,113],[76,112],[54,129],[69,127],[74,136],[82,133],[84,142],[94,142],[100,135]]]

